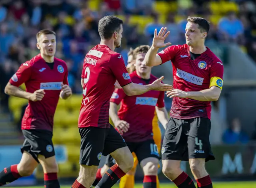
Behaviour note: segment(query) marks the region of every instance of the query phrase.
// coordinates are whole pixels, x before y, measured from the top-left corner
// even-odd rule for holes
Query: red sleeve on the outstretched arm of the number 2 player
[[[124,65],[124,59],[120,54],[116,53],[111,55],[110,62],[110,69],[122,87],[132,82],[130,75]]]

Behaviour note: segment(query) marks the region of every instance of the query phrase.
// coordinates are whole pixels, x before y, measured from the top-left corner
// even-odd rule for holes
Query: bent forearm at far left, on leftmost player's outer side
[[[11,85],[10,83],[8,83],[4,88],[4,93],[10,96],[19,97],[19,98],[28,99],[28,100],[30,100],[30,97],[32,95],[32,93],[26,92],[20,89],[19,87]]]

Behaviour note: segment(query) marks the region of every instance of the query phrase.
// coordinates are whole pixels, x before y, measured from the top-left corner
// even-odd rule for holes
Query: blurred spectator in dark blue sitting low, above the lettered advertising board
[[[238,118],[233,119],[231,127],[224,132],[222,141],[225,144],[248,143],[249,137],[242,131]]]

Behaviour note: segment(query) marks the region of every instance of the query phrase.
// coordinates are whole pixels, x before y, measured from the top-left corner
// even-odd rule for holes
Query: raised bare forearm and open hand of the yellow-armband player
[[[166,30],[167,30],[167,28],[161,28],[161,30],[157,34],[157,30],[155,29],[152,46],[150,47],[150,49],[148,50],[148,52],[146,53],[146,56],[145,56],[145,65],[146,66],[153,67],[153,66],[162,64],[162,59],[157,54],[158,49],[160,49],[161,47],[166,47],[166,46],[171,45],[170,42],[164,43],[164,40],[170,34],[170,31],[168,31],[166,33]]]

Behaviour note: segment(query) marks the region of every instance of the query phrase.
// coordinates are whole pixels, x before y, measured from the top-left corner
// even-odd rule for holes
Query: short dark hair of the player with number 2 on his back
[[[98,24],[98,32],[101,39],[110,39],[114,32],[120,31],[123,20],[116,16],[104,16]]]

